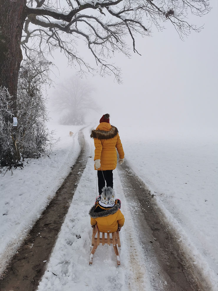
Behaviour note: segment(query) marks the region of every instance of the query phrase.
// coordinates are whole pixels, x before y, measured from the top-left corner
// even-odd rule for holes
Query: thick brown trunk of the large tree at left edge
[[[25,21],[26,0],[0,0],[0,86],[8,89],[12,96],[12,110],[17,116],[17,82],[22,51],[20,47],[22,29]],[[6,122],[12,122],[11,119]],[[16,127],[11,137],[14,142],[14,163],[20,159],[16,147]]]

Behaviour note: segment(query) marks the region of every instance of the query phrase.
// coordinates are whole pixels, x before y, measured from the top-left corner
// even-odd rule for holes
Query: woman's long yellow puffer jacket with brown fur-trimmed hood
[[[101,122],[90,135],[95,144],[95,160],[100,160],[101,168],[95,170],[114,170],[117,166],[117,151],[120,159],[124,158],[123,146],[118,129],[110,123]],[[117,151],[116,151],[117,149]]]

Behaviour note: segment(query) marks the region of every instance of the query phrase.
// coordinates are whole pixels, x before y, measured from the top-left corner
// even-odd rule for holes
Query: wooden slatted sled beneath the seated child
[[[95,237],[96,234],[97,234],[97,237]],[[105,244],[108,244],[109,246],[111,244],[113,245],[113,249],[115,251],[115,255],[117,258],[117,266],[119,267],[120,266],[120,254],[119,254],[119,250],[118,250],[118,247],[120,247],[119,231],[117,230],[116,232],[113,232],[111,234],[106,233],[106,237],[105,237],[105,233],[100,232],[98,230],[97,225],[93,226],[89,265],[92,265],[93,255],[95,254],[95,251],[100,244],[102,244],[103,246]]]

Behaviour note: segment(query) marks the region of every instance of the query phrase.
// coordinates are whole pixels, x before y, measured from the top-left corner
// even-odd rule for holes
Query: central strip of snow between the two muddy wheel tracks
[[[93,143],[90,148],[92,156]],[[111,246],[99,246],[93,257],[93,266],[89,266],[92,228],[88,211],[95,202],[97,178],[90,158],[38,290],[152,290],[143,250],[134,235],[131,214],[116,170],[114,172],[116,193],[119,193],[117,196],[122,201],[121,211],[125,216],[125,225],[120,232],[121,266],[116,267]],[[77,239],[77,234],[80,234],[80,239]]]

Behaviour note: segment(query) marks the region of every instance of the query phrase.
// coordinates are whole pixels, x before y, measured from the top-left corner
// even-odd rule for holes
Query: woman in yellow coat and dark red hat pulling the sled
[[[101,195],[102,188],[106,185],[113,188],[113,170],[117,166],[117,151],[119,154],[118,163],[124,162],[124,151],[118,134],[118,129],[110,125],[110,115],[104,114],[100,124],[93,129],[90,137],[95,144],[95,170],[98,170],[98,192]]]

